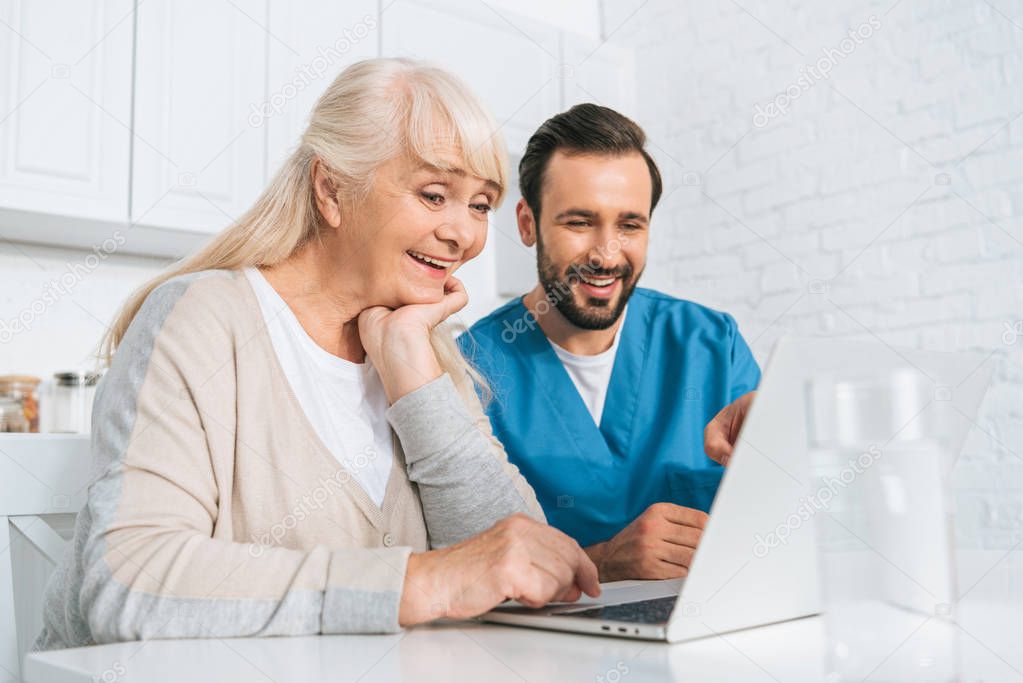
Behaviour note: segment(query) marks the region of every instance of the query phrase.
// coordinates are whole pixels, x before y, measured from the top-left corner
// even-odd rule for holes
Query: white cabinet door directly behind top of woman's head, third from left
[[[344,69],[380,52],[376,0],[270,4],[267,96],[252,122],[266,127],[267,175],[298,146],[316,100]]]

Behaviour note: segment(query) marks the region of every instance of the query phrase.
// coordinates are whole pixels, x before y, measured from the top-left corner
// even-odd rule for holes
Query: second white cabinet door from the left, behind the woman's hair
[[[266,0],[145,0],[135,51],[133,223],[219,232],[263,189]]]

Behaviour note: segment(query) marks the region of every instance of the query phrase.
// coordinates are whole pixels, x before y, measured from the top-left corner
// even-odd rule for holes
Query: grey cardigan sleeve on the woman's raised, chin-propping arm
[[[460,383],[459,390],[445,373],[388,410],[435,548],[516,512],[546,521],[533,488],[493,436],[471,381],[464,377]]]

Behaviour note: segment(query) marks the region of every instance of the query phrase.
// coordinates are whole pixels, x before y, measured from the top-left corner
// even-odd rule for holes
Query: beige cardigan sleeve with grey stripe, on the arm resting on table
[[[95,479],[47,587],[37,648],[398,631],[409,548],[213,537],[229,463],[214,459],[207,436],[232,428],[230,350],[244,340],[222,322],[229,302],[218,311],[188,287],[171,280],[146,299],[101,381]]]

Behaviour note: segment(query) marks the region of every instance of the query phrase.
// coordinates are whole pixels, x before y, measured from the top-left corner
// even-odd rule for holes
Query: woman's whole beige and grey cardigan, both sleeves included
[[[388,410],[381,508],[317,438],[241,273],[161,285],[97,392],[94,481],[36,647],[398,630],[410,552],[543,519],[458,379]]]

